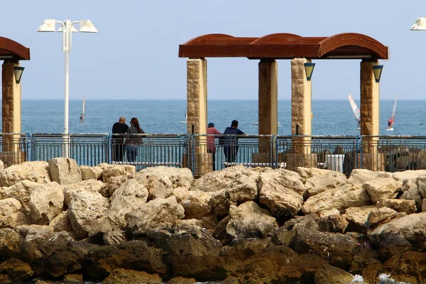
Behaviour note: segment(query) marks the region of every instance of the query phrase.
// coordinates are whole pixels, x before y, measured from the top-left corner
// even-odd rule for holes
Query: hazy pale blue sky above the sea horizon
[[[23,99],[63,99],[62,33],[37,33],[45,18],[89,19],[99,33],[74,33],[70,99],[186,99],[186,59],[179,44],[207,33],[329,36],[364,33],[391,50],[380,61],[381,99],[424,99],[426,1],[180,0],[1,1],[0,36],[31,49]],[[207,58],[209,99],[257,99],[258,61]],[[359,60],[315,60],[312,99],[359,98]],[[290,99],[290,61],[278,62],[278,97]]]

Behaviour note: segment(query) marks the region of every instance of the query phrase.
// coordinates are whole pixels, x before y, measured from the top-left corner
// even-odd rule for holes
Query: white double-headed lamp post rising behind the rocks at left
[[[55,24],[59,23],[60,28],[58,32],[62,32],[62,50],[65,53],[65,102],[64,102],[64,148],[63,157],[70,158],[68,148],[68,97],[70,92],[70,51],[72,45],[72,33],[76,33],[77,29],[74,27],[79,23],[79,30],[82,33],[97,33],[97,29],[93,26],[90,20],[74,21],[65,20],[63,22],[48,19],[43,21],[42,25],[37,29],[38,32],[54,32]]]

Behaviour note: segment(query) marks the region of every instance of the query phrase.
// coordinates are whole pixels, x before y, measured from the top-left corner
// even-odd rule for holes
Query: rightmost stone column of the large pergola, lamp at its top
[[[373,136],[362,138],[362,162],[363,168],[368,170],[384,170],[384,160],[377,151],[380,125],[380,84],[374,79],[373,65],[378,65],[378,61],[361,61],[361,135]]]

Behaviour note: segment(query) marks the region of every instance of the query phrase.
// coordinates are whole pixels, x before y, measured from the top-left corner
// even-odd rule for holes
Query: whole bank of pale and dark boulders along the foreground
[[[55,158],[1,170],[0,186],[0,283],[426,283],[426,170],[194,180]]]

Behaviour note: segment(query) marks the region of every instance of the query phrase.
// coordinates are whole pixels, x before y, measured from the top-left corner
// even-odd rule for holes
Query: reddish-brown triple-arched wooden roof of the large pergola
[[[273,33],[261,38],[236,38],[220,33],[201,35],[179,45],[180,58],[310,58],[388,59],[386,45],[360,33],[339,33],[329,37],[302,37]]]

